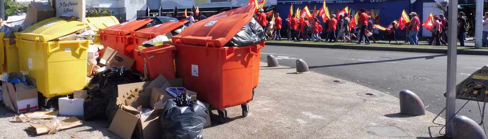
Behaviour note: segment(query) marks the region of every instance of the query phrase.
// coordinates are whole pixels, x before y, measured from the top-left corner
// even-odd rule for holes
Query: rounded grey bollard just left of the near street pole
[[[425,115],[425,107],[422,100],[410,90],[402,90],[399,94],[400,114],[406,116]]]

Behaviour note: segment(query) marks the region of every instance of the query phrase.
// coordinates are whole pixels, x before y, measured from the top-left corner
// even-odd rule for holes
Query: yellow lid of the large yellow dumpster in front
[[[47,42],[72,34],[86,27],[88,27],[88,25],[80,21],[64,20],[53,17],[28,27],[20,32],[19,36],[24,40]]]

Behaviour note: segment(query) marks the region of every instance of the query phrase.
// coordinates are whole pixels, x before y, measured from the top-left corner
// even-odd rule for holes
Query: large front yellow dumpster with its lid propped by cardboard
[[[79,21],[49,18],[16,34],[20,71],[36,80],[43,96],[71,94],[86,85],[90,40],[51,41],[86,27]]]

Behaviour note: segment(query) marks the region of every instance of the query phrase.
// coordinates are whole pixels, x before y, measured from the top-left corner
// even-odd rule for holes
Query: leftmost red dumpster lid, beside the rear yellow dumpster
[[[113,25],[105,29],[99,29],[99,30],[100,33],[123,36],[129,34],[131,31],[135,31],[145,26],[147,23],[151,21],[152,19],[149,18],[143,20],[132,20],[132,21],[127,21],[122,24]]]

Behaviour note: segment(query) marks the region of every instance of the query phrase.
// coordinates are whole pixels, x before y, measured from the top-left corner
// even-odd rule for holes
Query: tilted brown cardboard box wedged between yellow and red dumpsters
[[[100,64],[107,65],[109,69],[112,67],[122,67],[122,66],[124,66],[127,69],[130,69],[134,64],[134,60],[123,55],[122,53],[117,52],[116,50],[110,47],[107,47],[104,49],[103,56],[100,59]]]

